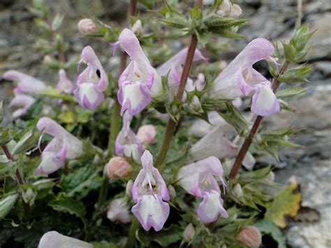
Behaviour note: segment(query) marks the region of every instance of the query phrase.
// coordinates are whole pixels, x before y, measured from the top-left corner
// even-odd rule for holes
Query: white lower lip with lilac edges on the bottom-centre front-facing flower
[[[132,207],[132,212],[145,231],[149,231],[151,227],[155,231],[160,231],[168,219],[170,207],[157,195],[145,195],[138,199],[138,203]]]

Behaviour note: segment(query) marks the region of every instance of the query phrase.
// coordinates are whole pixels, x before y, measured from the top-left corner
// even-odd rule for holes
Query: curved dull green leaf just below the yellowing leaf
[[[253,226],[258,228],[258,230],[261,233],[268,234],[275,241],[277,241],[278,248],[286,248],[286,240],[284,238],[283,233],[281,233],[281,230],[277,226],[275,226],[272,223],[272,221],[270,221],[269,219],[263,219],[263,220],[256,222],[256,224],[254,224]]]

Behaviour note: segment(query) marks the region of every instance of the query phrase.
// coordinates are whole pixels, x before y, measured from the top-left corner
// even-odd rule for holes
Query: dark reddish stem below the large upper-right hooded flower
[[[284,66],[281,68],[281,71],[279,72],[278,77],[276,78],[276,80],[274,80],[274,83],[272,85],[272,91],[274,93],[277,92],[277,89],[281,83],[279,81],[279,76],[284,74],[284,72],[288,68],[288,65],[289,65],[289,62],[286,61]],[[258,131],[258,127],[260,126],[262,119],[263,119],[263,117],[260,115],[258,115],[258,117],[256,117],[256,120],[251,128],[251,131],[249,132],[249,135],[246,137],[244,144],[242,144],[242,147],[240,148],[240,152],[238,153],[237,158],[235,159],[235,163],[233,163],[233,168],[231,169],[231,172],[229,175],[230,179],[235,179],[235,176],[237,175],[239,169],[242,167],[242,161],[244,160],[244,157],[246,156],[247,151],[249,150],[249,147],[251,146],[253,138],[255,137],[255,135]]]

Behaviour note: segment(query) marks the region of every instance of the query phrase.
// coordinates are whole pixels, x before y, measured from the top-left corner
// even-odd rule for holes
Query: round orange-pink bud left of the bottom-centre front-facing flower
[[[108,177],[114,180],[127,177],[132,170],[131,164],[122,156],[115,156],[108,163]]]

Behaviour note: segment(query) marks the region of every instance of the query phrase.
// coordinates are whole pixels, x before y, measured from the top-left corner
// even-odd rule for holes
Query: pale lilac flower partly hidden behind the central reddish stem
[[[180,82],[180,78],[182,77],[183,66],[186,60],[187,51],[188,48],[184,48],[180,50],[177,54],[175,54],[175,56],[171,57],[168,61],[165,61],[161,66],[159,66],[159,68],[157,68],[157,72],[161,76],[165,76],[167,75],[167,73],[169,73],[168,85],[172,90],[172,92],[174,92],[174,94],[177,93],[179,87],[179,82]],[[205,59],[205,57],[203,57],[201,52],[198,49],[196,49],[196,52],[194,52],[194,56],[193,56],[193,62],[198,61],[200,59]],[[203,80],[203,83],[205,82],[205,77],[203,76],[203,78],[201,78],[202,76],[203,74],[198,76],[198,80],[196,81],[198,82],[197,85],[199,85],[201,80]],[[193,80],[191,80],[191,78],[188,78],[185,87],[186,91],[189,92],[193,91],[195,88],[194,86],[195,85],[193,85]]]

